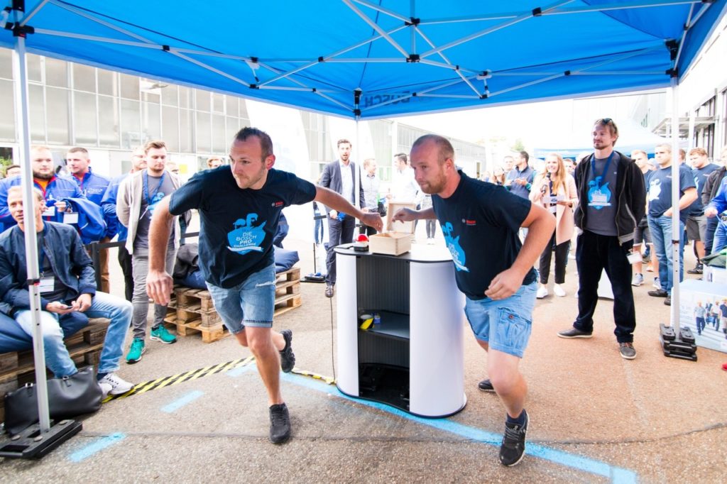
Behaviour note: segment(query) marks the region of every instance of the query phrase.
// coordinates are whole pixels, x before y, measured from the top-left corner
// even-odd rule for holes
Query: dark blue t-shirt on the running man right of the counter
[[[510,269],[522,243],[518,230],[531,203],[499,185],[462,176],[449,198],[432,195],[434,212],[456,269],[457,287],[470,299],[484,299],[492,279]],[[535,270],[523,284],[535,281]]]

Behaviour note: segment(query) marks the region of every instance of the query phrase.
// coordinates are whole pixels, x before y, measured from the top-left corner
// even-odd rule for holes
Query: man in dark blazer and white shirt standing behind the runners
[[[354,201],[354,184],[356,183],[356,164],[350,161],[351,142],[338,140],[338,159],[326,165],[321,174],[321,187],[330,188],[340,193],[343,198],[356,205]],[[366,211],[364,201],[364,186],[361,177],[358,179],[359,203],[362,211]],[[328,213],[328,253],[326,254],[326,297],[333,297],[333,286],[336,283],[336,253],[334,247],[342,243],[353,242],[353,229],[356,219],[346,214],[339,214],[334,209],[326,207]]]

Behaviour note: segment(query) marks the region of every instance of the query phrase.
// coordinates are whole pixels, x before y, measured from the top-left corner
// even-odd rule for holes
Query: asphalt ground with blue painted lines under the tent
[[[286,241],[286,248],[299,251],[302,274],[313,272],[310,243]],[[685,252],[691,268],[691,246]],[[112,291],[122,294],[114,256]],[[486,353],[469,328],[467,406],[459,414],[421,419],[349,398],[321,379],[284,375],[293,429],[284,445],[268,441],[265,389],[254,361],[245,360],[249,350],[233,337],[204,344],[193,335],[172,345],[148,342],[142,361],[121,363],[119,374],[141,383],[236,363],[105,403],[44,459],[0,459],[0,482],[725,482],[727,372],[720,366],[727,355],[699,348],[697,362],[665,358],[658,327],[669,308],[648,297],[646,284],[634,288],[635,360],[619,356],[606,299],[593,339],[558,338],[577,313],[574,271],[571,260],[566,297],[536,305],[521,365],[531,423],[516,467],[497,459],[505,411],[496,395],[476,387]],[[302,283],[302,305],[274,328],[294,331],[296,371],[334,377],[336,298],[323,293],[323,284]]]

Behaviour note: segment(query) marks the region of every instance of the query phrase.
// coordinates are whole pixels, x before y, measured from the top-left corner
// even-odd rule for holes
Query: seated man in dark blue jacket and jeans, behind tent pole
[[[71,225],[45,222],[43,194],[34,189],[36,205],[28,211],[35,222],[40,269],[41,326],[46,365],[57,378],[76,374],[78,369],[63,343],[60,315],[85,312],[89,318],[108,318],[103,350],[98,365],[98,382],[104,394],[121,395],[134,385],[116,375],[122,345],[132,317],[132,305],[116,296],[96,291],[95,272],[81,238]],[[10,187],[7,206],[17,225],[0,234],[0,300],[12,307],[12,317],[27,334],[33,333],[28,273],[25,258],[23,188]]]

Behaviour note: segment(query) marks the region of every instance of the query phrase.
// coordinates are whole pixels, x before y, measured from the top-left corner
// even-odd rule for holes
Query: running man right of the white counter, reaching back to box
[[[394,220],[438,219],[451,253],[457,287],[465,293],[465,313],[478,343],[488,352],[489,380],[505,405],[505,437],[499,459],[518,464],[525,451],[528,414],[526,384],[518,366],[530,337],[535,304],[533,265],[555,229],[555,217],[504,187],[467,177],[454,164],[454,148],[435,134],[411,147],[411,167],[433,206],[402,209]],[[520,227],[529,227],[521,244]]]

